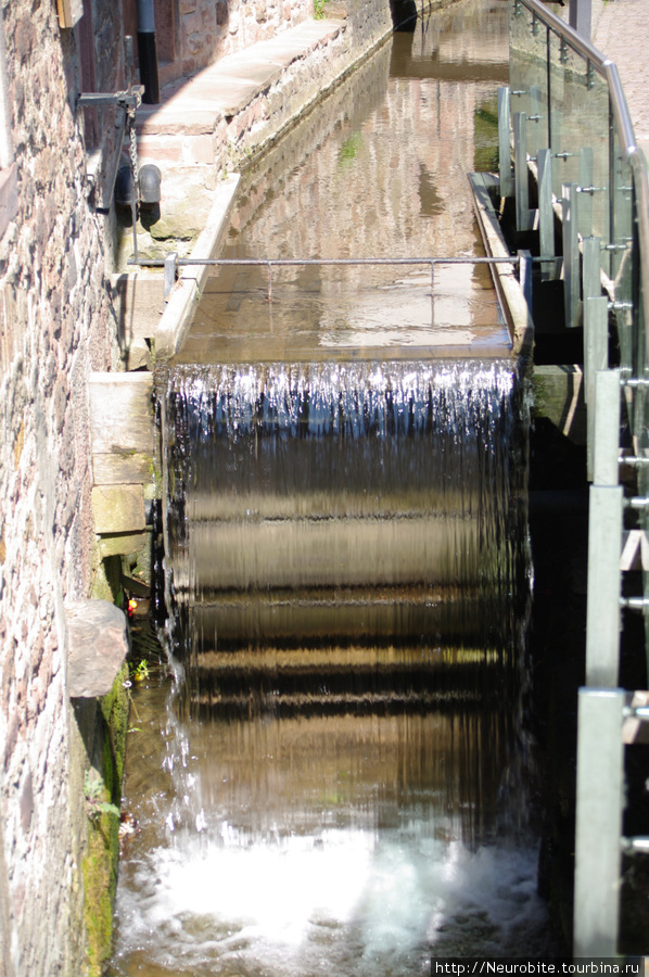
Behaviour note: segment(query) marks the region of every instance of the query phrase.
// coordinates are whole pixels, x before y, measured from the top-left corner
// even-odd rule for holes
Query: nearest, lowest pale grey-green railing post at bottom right
[[[619,688],[581,688],[573,955],[618,953],[622,860],[623,759]]]

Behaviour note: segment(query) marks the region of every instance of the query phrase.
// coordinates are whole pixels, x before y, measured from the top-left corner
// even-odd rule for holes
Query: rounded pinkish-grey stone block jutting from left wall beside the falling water
[[[69,697],[107,695],[128,654],[124,611],[107,600],[79,600],[67,606],[66,617]]]

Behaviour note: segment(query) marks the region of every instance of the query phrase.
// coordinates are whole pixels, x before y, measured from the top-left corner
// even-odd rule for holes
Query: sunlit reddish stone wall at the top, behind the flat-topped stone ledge
[[[294,27],[313,10],[313,0],[180,0],[182,73]]]

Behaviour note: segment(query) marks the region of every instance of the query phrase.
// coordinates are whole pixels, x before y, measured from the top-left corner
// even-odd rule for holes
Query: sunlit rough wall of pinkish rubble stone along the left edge
[[[65,604],[96,571],[86,380],[118,354],[75,111],[78,31],[55,3],[7,0],[3,20],[16,183],[0,240],[0,974],[79,975],[87,817]]]

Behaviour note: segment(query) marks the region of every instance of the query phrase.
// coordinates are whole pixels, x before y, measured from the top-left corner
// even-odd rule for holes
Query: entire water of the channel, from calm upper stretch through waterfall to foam
[[[244,176],[225,257],[479,255],[506,5],[396,34]],[[174,661],[133,688],[110,974],[547,955],[524,402],[488,271],[228,267],[158,377]]]

